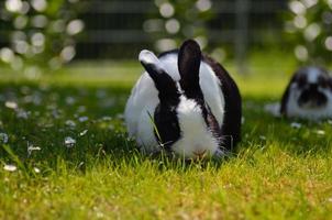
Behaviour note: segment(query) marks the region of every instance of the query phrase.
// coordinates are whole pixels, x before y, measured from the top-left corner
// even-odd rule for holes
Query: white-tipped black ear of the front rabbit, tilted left
[[[142,66],[145,68],[157,90],[159,91],[161,102],[177,100],[179,97],[176,82],[164,70],[161,61],[150,51],[142,51],[139,57]]]

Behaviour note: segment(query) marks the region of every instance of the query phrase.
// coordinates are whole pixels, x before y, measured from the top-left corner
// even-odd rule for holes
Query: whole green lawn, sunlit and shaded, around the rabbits
[[[235,75],[243,140],[222,162],[192,164],[144,156],[126,139],[134,62],[76,64],[38,80],[3,73],[0,219],[331,219],[331,122],[263,110],[295,67],[285,61],[254,56],[251,74]]]

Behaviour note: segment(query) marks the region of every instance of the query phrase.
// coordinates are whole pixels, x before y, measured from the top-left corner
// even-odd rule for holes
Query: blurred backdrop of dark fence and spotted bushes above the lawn
[[[73,62],[136,59],[142,48],[158,53],[186,38],[240,74],[255,56],[330,65],[332,0],[0,2],[0,67],[30,77]]]

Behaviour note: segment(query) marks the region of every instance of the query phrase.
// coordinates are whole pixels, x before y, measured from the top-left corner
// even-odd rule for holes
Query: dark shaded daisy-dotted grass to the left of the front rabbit
[[[128,139],[123,109],[130,88],[77,87],[42,84],[0,85],[0,147],[2,163],[56,170],[59,163],[85,170],[96,163],[140,166],[151,162],[158,169],[220,166],[225,160],[189,162],[140,153]],[[5,143],[4,143],[5,142]],[[14,158],[16,157],[16,158]]]

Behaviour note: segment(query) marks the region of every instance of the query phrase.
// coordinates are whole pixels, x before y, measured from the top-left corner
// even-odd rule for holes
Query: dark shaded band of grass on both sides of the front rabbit
[[[126,138],[123,109],[130,88],[78,87],[43,84],[0,85],[0,132],[2,144],[26,166],[56,169],[59,161],[85,170],[88,164],[110,163],[140,166],[146,161],[161,170],[186,170],[222,166],[237,153],[251,148],[264,150],[274,144],[290,154],[323,154],[331,148],[332,132],[328,122],[309,123],[294,129],[285,119],[264,111],[268,97],[244,97],[242,142],[230,157],[190,162],[173,156],[142,155],[135,143]],[[3,135],[8,135],[8,141]],[[67,141],[66,141],[67,140]],[[68,141],[69,140],[69,141]],[[0,160],[12,162],[12,156],[0,147]]]

